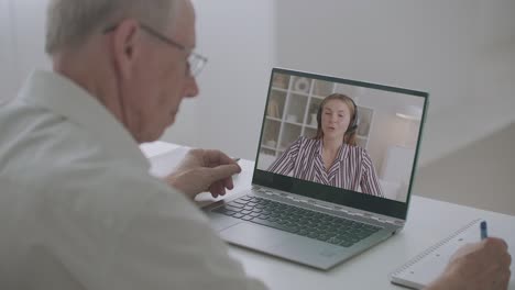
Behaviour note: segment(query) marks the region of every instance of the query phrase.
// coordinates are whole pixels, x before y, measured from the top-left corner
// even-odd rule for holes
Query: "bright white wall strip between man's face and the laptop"
[[[198,0],[198,51],[209,57],[200,96],[164,140],[254,159],[275,63],[275,1]]]

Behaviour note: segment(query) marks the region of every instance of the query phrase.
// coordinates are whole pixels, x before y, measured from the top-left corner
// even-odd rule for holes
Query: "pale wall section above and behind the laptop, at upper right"
[[[430,92],[420,164],[515,120],[515,1],[282,0],[281,66]]]

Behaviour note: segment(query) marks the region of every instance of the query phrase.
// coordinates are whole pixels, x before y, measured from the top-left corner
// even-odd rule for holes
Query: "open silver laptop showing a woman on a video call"
[[[347,99],[355,118],[327,113],[329,101],[320,110],[329,96]],[[273,68],[252,186],[205,209],[212,227],[228,243],[322,270],[377,245],[406,223],[427,107],[427,92]],[[352,141],[321,166],[332,136],[324,115],[343,113]]]

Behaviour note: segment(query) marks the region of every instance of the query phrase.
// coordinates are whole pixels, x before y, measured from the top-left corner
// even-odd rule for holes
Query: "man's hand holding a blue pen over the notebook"
[[[427,290],[505,290],[509,282],[512,257],[503,239],[490,237],[461,247],[441,277]]]

